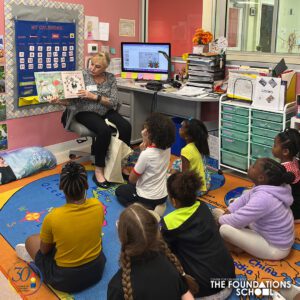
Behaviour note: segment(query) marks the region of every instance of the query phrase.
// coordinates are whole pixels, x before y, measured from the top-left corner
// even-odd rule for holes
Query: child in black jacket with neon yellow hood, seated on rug
[[[169,199],[175,210],[163,218],[161,232],[185,272],[196,279],[196,296],[227,299],[231,289],[212,288],[211,280],[235,278],[233,259],[206,203],[197,200],[200,184],[193,172],[175,173],[168,178]]]

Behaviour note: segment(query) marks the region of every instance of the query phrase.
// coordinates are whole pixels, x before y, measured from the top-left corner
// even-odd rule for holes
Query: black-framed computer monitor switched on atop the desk
[[[121,43],[122,72],[168,74],[170,43]]]

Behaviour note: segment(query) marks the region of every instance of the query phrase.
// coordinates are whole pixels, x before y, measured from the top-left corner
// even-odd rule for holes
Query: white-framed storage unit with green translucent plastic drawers
[[[295,103],[267,111],[221,97],[219,114],[219,166],[247,173],[257,158],[273,158],[274,138],[290,126]]]

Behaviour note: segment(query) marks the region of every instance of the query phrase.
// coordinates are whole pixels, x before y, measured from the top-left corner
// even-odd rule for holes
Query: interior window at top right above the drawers
[[[298,0],[216,0],[215,35],[228,50],[261,54],[300,54]]]

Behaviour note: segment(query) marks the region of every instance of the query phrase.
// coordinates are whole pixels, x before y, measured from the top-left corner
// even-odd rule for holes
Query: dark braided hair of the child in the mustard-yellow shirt
[[[76,162],[68,162],[61,170],[59,188],[63,190],[67,200],[83,199],[89,188],[84,167]]]

